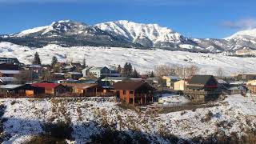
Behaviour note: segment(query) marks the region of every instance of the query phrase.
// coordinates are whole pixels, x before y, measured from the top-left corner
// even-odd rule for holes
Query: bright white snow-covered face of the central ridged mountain
[[[142,24],[122,20],[99,23],[95,26],[129,42],[139,43],[146,47],[174,47],[175,44],[194,44],[182,34],[178,34],[167,27],[158,26],[158,24]]]

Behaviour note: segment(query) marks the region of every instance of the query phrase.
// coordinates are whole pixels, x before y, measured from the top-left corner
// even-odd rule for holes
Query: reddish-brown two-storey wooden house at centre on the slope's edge
[[[146,105],[153,102],[154,87],[143,81],[123,81],[113,85],[121,101],[135,105]]]

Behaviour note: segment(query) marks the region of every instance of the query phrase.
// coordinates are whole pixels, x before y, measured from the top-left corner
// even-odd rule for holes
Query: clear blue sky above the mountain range
[[[189,38],[226,38],[256,27],[254,0],[0,0],[0,34],[59,20],[157,23]]]

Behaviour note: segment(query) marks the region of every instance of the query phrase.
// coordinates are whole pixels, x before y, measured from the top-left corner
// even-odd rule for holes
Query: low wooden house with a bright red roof
[[[59,95],[66,92],[66,87],[58,83],[34,83],[31,86],[44,88],[45,94]]]

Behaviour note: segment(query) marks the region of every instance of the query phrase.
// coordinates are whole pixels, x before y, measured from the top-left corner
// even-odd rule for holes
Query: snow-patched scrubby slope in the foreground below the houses
[[[256,97],[230,95],[220,102],[220,106],[168,114],[139,114],[125,110],[117,106],[114,98],[10,98],[0,99],[0,104],[6,106],[2,115],[6,119],[2,124],[3,131],[10,134],[10,139],[4,143],[26,142],[31,136],[43,132],[43,122],[58,121],[71,122],[72,137],[77,143],[90,141],[90,135],[102,130],[99,127],[102,122],[116,130],[140,130],[149,138],[153,135],[152,142],[169,143],[162,138],[162,131],[189,142],[192,138],[206,138],[212,134],[229,136],[232,132],[241,137],[243,130],[256,129],[255,100]]]

